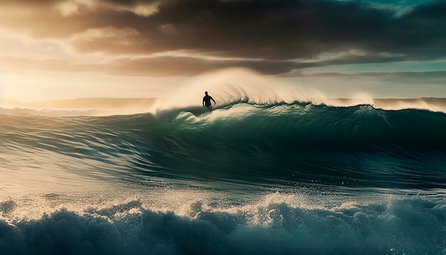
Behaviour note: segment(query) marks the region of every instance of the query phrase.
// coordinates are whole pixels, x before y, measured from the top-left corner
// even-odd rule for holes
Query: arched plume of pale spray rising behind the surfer
[[[271,105],[275,103],[323,103],[323,94],[304,85],[286,83],[274,76],[261,76],[243,68],[229,68],[207,73],[159,100],[152,110],[201,105],[204,91],[208,91],[219,105],[236,102]]]

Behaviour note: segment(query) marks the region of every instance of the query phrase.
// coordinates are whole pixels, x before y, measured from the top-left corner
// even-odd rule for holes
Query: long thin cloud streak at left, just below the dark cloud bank
[[[146,58],[105,58],[99,61],[73,61],[61,58],[0,57],[0,68],[45,72],[104,73],[119,76],[196,76],[228,67],[251,68],[265,74],[289,70],[289,63],[275,61],[209,60],[184,56]]]

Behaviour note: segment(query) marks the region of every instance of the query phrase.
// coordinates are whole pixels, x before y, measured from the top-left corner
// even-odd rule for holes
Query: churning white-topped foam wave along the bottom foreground
[[[442,254],[446,204],[389,199],[336,207],[271,194],[238,207],[162,212],[131,200],[39,219],[0,219],[1,254]]]

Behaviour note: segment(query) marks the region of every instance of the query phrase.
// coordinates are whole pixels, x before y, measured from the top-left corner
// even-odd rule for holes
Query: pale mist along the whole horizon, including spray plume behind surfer
[[[296,79],[298,80],[298,79]],[[217,100],[217,107],[234,103],[275,105],[310,103],[348,107],[371,105],[376,109],[422,109],[446,113],[445,98],[373,98],[352,90],[343,98],[332,98],[299,80],[264,76],[246,68],[227,68],[185,80],[163,98],[76,98],[35,103],[3,103],[0,113],[46,116],[107,116],[136,113],[162,114],[202,108],[204,91]],[[336,84],[333,84],[336,86]]]

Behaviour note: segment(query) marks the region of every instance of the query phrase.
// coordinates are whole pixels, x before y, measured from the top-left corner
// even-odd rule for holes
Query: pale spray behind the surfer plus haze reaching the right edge
[[[228,68],[202,76],[160,98],[150,113],[171,108],[200,107],[204,91],[217,100],[219,107],[244,102],[258,105],[311,103],[312,105],[372,105],[384,110],[423,109],[446,113],[444,98],[373,98],[364,92],[351,91],[345,98],[331,98],[304,83],[290,83],[274,76],[262,76],[244,68]]]

